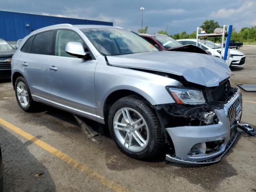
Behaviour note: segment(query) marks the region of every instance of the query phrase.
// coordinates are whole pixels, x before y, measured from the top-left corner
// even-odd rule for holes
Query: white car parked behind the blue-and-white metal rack
[[[187,44],[196,45],[196,39],[179,39],[177,41],[183,45],[187,45]],[[219,45],[214,44],[214,42],[212,41],[200,40],[198,42],[199,44],[198,46],[200,46],[201,43],[202,43],[202,48],[204,50],[211,52],[213,56],[221,58],[220,56],[221,47]],[[222,56],[224,56],[224,54],[222,54]],[[229,59],[227,64],[228,66],[236,66],[236,67],[244,66],[245,64],[244,54],[238,50],[229,49]]]

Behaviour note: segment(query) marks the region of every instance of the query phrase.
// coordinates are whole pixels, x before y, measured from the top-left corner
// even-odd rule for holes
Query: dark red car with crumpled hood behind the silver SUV
[[[180,42],[164,34],[153,34],[153,35],[139,34],[139,35],[163,51],[194,52],[194,53],[211,55],[210,52],[203,50],[198,46],[182,45]]]

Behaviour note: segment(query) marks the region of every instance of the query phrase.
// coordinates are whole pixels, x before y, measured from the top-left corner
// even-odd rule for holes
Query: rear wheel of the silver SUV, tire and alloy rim
[[[17,87],[19,89],[17,89]],[[36,109],[37,102],[32,99],[30,89],[24,77],[20,76],[16,79],[14,90],[16,100],[22,110],[25,112],[32,112]],[[22,99],[20,100],[21,97]],[[24,97],[26,97],[26,102]]]

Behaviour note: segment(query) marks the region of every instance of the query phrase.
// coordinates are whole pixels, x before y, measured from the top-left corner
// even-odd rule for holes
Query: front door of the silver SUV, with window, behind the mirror
[[[60,108],[68,109],[88,118],[96,118],[94,71],[97,61],[84,60],[65,52],[68,42],[80,42],[81,36],[73,30],[56,30],[54,55],[48,67],[51,80],[51,100]]]

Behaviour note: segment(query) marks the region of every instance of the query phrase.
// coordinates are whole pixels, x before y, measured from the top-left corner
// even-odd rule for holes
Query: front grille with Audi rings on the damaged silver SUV
[[[236,99],[236,101],[228,108],[228,120],[229,125],[232,127],[236,124],[236,121],[238,120],[238,115],[240,111],[242,110],[242,95]]]

